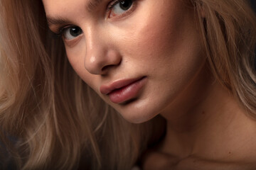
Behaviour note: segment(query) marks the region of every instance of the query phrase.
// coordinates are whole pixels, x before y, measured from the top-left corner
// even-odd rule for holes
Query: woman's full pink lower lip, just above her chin
[[[122,103],[134,98],[139,93],[139,90],[142,89],[145,82],[146,78],[144,77],[138,81],[134,81],[132,84],[124,86],[121,89],[112,91],[110,94],[108,94],[110,101],[113,103]]]

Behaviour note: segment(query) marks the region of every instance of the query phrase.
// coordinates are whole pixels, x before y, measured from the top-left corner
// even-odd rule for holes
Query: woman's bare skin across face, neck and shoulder
[[[144,155],[144,169],[255,167],[256,123],[210,73],[190,1],[90,2],[43,0],[81,79],[131,123],[166,118],[166,136]],[[139,89],[127,99],[102,93],[131,80]]]

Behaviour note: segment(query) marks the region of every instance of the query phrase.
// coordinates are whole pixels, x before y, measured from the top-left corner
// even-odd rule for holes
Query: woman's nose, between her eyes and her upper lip
[[[111,43],[105,31],[87,29],[85,33],[85,69],[91,74],[106,74],[107,70],[117,67],[122,57]]]

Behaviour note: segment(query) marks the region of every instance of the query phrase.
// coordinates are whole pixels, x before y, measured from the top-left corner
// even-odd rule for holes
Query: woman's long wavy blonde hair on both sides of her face
[[[191,1],[213,75],[255,115],[255,13],[245,0]],[[75,74],[41,1],[1,0],[0,20],[1,140],[19,169],[131,169],[161,137],[162,118],[127,123]]]

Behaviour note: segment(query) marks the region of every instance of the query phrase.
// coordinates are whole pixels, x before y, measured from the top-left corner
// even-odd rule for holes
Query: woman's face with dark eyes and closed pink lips
[[[75,72],[132,123],[168,106],[201,69],[201,35],[186,0],[43,0]],[[189,0],[187,0],[189,1]]]

